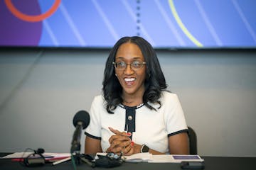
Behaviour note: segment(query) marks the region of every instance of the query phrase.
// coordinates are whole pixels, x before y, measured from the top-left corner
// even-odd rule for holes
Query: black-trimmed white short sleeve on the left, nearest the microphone
[[[100,108],[103,107],[102,96],[96,96],[90,107],[90,124],[85,130],[85,135],[98,139],[101,139],[101,123],[100,123]]]

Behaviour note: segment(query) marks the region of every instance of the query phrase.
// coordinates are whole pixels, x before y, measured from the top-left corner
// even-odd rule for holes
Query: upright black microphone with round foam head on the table
[[[73,125],[75,126],[75,132],[73,134],[73,140],[71,142],[70,153],[80,152],[80,138],[82,130],[87,128],[90,123],[90,115],[87,111],[78,111],[73,118]]]

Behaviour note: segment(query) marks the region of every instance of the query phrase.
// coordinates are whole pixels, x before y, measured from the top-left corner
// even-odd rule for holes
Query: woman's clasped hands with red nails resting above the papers
[[[139,149],[139,146],[134,145],[134,142],[130,139],[131,132],[120,132],[113,128],[109,128],[114,133],[109,139],[110,147],[107,148],[106,152],[113,152],[115,154],[131,155]],[[140,149],[139,149],[140,151]]]

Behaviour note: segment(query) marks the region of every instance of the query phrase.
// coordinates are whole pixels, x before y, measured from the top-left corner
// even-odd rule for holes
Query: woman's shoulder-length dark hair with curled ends
[[[159,60],[156,57],[156,52],[153,47],[144,40],[144,38],[134,36],[134,37],[123,37],[119,39],[107,58],[104,71],[104,79],[102,82],[103,88],[102,92],[106,101],[106,109],[108,113],[113,113],[112,111],[117,108],[119,103],[123,102],[122,99],[122,86],[119,84],[117,77],[114,72],[115,56],[120,45],[125,42],[132,42],[139,46],[142,50],[142,55],[144,56],[146,62],[146,79],[144,82],[145,91],[143,95],[143,103],[146,107],[156,110],[149,105],[151,103],[159,103],[161,107],[161,102],[159,98],[161,97],[161,91],[167,88],[166,80],[164,74],[161,71]]]

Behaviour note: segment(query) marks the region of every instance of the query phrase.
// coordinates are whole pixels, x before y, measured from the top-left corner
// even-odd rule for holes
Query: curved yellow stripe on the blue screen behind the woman
[[[181,30],[183,31],[183,33],[188,37],[188,39],[190,39],[195,45],[197,45],[198,47],[203,47],[203,45],[201,44],[201,42],[199,42],[198,40],[196,40],[196,38],[193,37],[193,35],[191,33],[189,33],[188,29],[184,26],[184,24],[181,21],[181,18],[179,18],[178,13],[176,11],[176,8],[174,6],[174,1],[173,0],[169,0],[169,6],[171,8],[171,13],[173,13],[174,18],[176,20],[176,22],[178,23],[178,26],[181,28]]]

